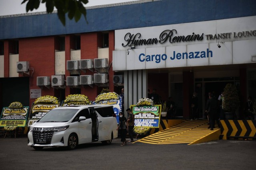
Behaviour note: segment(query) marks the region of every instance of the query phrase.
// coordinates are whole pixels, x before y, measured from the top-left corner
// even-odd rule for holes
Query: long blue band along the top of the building
[[[256,0],[161,0],[87,10],[76,23],[56,13],[0,18],[0,39],[40,37],[220,20],[256,15]]]

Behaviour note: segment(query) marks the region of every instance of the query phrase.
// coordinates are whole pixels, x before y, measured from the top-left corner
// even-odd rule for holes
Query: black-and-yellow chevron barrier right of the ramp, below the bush
[[[220,139],[252,138],[256,139],[256,120],[221,120]]]

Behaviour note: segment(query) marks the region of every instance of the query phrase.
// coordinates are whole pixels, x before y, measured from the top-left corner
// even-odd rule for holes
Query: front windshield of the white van
[[[74,117],[79,109],[52,109],[38,122],[67,122]]]

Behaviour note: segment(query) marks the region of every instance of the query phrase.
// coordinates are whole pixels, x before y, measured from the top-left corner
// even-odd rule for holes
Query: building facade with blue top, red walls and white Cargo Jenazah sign
[[[88,8],[88,23],[66,26],[56,13],[2,16],[0,107],[31,106],[45,95],[94,101],[103,88],[119,94],[124,87],[125,108],[156,89],[184,118],[197,92],[204,118],[208,92],[218,96],[233,83],[243,118],[248,96],[256,98],[255,8],[254,0],[141,0]]]

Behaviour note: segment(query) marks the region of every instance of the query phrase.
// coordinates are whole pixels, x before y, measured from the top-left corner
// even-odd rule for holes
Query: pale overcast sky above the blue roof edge
[[[12,15],[12,14],[24,14],[26,13],[26,3],[21,4],[23,0],[0,0],[0,16]],[[131,2],[137,0],[88,0],[88,4],[85,6],[97,6],[105,4],[115,4],[121,2]],[[37,10],[32,12],[44,12],[46,11],[45,3],[40,4]],[[30,13],[29,11],[28,13]]]

